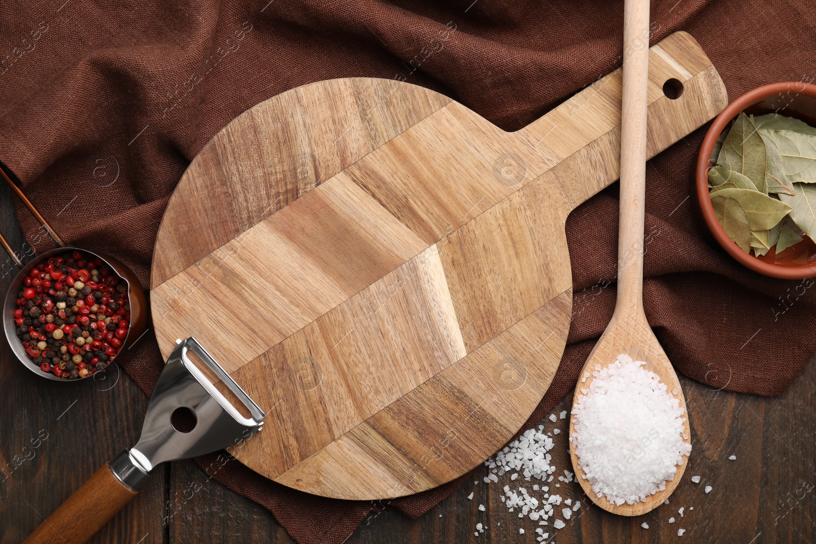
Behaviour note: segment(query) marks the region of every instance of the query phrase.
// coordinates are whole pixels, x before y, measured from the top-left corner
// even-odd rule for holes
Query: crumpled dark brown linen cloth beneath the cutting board
[[[149,285],[175,184],[246,108],[317,80],[396,77],[515,130],[619,65],[622,12],[622,2],[601,0],[13,2],[0,17],[0,160],[66,241],[118,256]],[[811,0],[654,0],[652,21],[652,43],[679,29],[697,38],[732,98],[764,83],[814,80]],[[648,166],[646,315],[681,373],[776,395],[816,349],[816,289],[750,272],[707,236],[690,197],[702,138],[696,131]],[[574,386],[610,319],[615,187],[567,222],[574,320],[530,423]],[[51,247],[17,204],[29,243]],[[137,347],[120,362],[149,393],[162,359],[152,336]],[[214,475],[304,543],[342,542],[386,504],[421,515],[460,483],[380,504],[299,493],[237,462]]]

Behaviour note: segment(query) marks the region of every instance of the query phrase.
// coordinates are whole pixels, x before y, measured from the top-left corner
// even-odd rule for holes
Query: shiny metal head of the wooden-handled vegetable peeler
[[[224,382],[251,417],[243,416],[215,388],[188,352]],[[195,414],[195,427],[189,432],[177,430],[171,422],[173,412],[180,408]],[[159,463],[197,457],[248,440],[262,428],[264,415],[204,347],[195,338],[187,338],[175,347],[153,388],[139,442],[110,462],[110,467],[123,484],[136,489]]]

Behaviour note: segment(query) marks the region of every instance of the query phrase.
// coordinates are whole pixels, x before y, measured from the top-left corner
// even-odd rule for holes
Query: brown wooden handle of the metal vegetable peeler
[[[105,463],[67,501],[48,516],[23,544],[82,544],[88,542],[136,496]],[[94,512],[88,513],[92,505]]]

